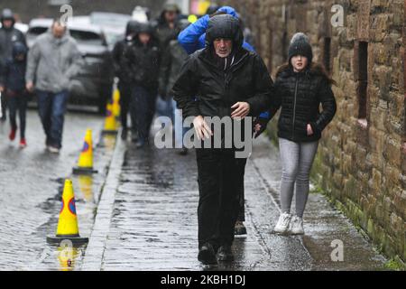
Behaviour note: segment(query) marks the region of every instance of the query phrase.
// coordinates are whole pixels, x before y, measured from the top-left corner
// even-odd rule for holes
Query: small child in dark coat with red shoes
[[[20,147],[24,148],[25,119],[27,110],[27,91],[25,90],[25,71],[27,69],[27,48],[22,42],[14,42],[13,57],[5,62],[0,70],[0,89],[5,92],[10,112],[11,132],[8,136],[14,141],[17,132],[16,115],[20,117]]]

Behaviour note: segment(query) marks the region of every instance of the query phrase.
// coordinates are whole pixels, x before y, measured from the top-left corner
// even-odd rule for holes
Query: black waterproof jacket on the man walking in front
[[[271,104],[272,79],[260,56],[240,48],[227,70],[217,66],[210,48],[191,54],[172,95],[183,117],[230,117],[236,102],[250,104],[257,117]],[[194,98],[196,96],[196,99]]]

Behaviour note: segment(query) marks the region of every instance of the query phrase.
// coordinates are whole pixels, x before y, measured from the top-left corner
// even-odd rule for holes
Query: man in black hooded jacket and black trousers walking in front
[[[231,147],[226,145],[228,131],[214,130],[217,135],[213,135],[204,117],[245,122],[245,117],[259,116],[271,104],[272,79],[261,57],[242,47],[243,32],[235,17],[212,17],[206,37],[206,48],[189,55],[172,94],[183,117],[194,118],[198,139],[220,136],[223,141],[220,148],[196,148],[198,260],[216,264],[217,257],[220,261],[234,259],[231,246],[246,158],[236,157],[233,141]],[[234,136],[235,131],[231,140]]]

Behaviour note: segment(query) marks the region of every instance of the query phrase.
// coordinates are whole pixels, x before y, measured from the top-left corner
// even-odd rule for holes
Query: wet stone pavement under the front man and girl
[[[279,214],[279,153],[264,137],[246,166],[248,234],[235,239],[235,262],[197,260],[198,183],[194,152],[137,150],[118,141],[81,270],[380,270],[385,258],[321,195],[312,193],[304,237],[273,234]],[[344,261],[334,262],[335,240]]]

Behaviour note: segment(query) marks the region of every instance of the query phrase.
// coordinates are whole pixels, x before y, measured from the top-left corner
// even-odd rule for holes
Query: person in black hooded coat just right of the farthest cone
[[[153,37],[152,25],[140,23],[134,42],[125,51],[125,73],[132,82],[130,114],[135,119],[138,148],[149,143],[161,61],[159,42]]]

